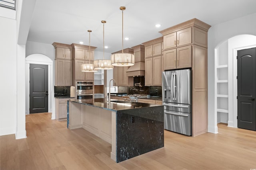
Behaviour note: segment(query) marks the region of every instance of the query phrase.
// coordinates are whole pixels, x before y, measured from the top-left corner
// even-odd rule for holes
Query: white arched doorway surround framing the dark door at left
[[[48,65],[48,112],[52,112],[52,119],[55,119],[55,111],[53,106],[54,101],[54,84],[53,84],[53,61],[42,54],[32,54],[26,57],[26,114],[29,114],[29,66],[30,64],[44,64]]]

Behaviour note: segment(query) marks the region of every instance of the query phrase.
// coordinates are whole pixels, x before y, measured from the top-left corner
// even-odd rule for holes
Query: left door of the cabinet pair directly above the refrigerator
[[[162,58],[163,70],[172,70],[176,68],[176,49],[164,51]]]

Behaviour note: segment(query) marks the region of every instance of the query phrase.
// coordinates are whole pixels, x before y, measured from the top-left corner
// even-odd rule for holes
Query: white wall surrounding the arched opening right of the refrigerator
[[[214,49],[235,35],[256,35],[255,21],[256,13],[214,25],[208,31],[208,132],[218,133],[214,114]]]

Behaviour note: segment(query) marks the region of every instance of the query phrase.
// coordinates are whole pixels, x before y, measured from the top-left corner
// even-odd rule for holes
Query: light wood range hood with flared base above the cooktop
[[[145,76],[145,47],[137,45],[134,49],[135,63],[126,70],[127,76]]]

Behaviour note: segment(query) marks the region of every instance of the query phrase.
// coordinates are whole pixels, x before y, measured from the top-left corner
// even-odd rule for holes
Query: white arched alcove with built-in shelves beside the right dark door
[[[237,128],[237,51],[256,47],[255,35],[236,35],[215,48],[215,127],[228,123]],[[218,133],[218,129],[216,131]]]

